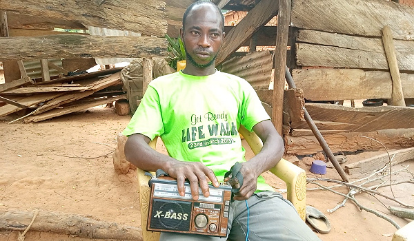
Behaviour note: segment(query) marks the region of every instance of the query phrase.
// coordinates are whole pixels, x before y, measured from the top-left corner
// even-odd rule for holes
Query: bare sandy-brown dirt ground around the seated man
[[[132,171],[118,176],[112,165],[112,151],[117,143],[117,134],[126,127],[130,116],[118,116],[113,108],[101,106],[41,123],[8,125],[7,122],[14,118],[17,116],[0,119],[0,213],[40,209],[92,216],[133,227],[141,226],[135,173]],[[348,156],[348,162],[383,152]],[[411,165],[408,169],[414,172],[413,161],[402,163],[393,169],[408,164]],[[306,169],[308,178],[315,177],[303,162],[299,166]],[[328,174],[323,177],[340,180],[335,169],[328,169]],[[285,188],[283,182],[275,176],[266,174],[265,178],[273,187]],[[351,180],[356,178],[359,177],[351,177]],[[393,176],[393,180],[409,178],[413,178],[413,175],[406,172]],[[335,190],[348,192],[343,187]],[[392,195],[389,187],[377,191]],[[412,184],[393,185],[393,193],[398,200],[414,205]],[[360,193],[356,197],[362,205],[393,218],[400,225],[409,221],[390,216],[386,208],[372,196]],[[317,234],[322,240],[385,241],[391,240],[392,233],[396,231],[391,223],[372,213],[359,211],[350,201],[346,202],[345,207],[328,213],[327,209],[333,209],[343,200],[330,191],[308,191],[306,198],[308,205],[322,211],[331,222],[331,233]],[[398,206],[384,198],[379,200],[387,206]],[[17,240],[17,235],[16,231],[2,231],[0,240]],[[32,240],[87,239],[29,231],[26,241]]]

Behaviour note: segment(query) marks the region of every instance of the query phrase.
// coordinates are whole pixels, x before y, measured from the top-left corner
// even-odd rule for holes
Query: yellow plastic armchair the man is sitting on
[[[249,132],[245,127],[240,126],[239,133],[244,136],[248,145],[252,149],[254,154],[259,153],[263,144],[259,136],[254,132]],[[155,149],[157,144],[157,137],[152,140],[149,145],[152,149]],[[297,213],[305,220],[306,218],[306,173],[304,169],[297,167],[296,165],[289,163],[287,160],[280,160],[279,163],[270,171],[286,182],[288,200],[293,203]],[[137,169],[137,178],[139,185],[139,203],[141,206],[141,228],[142,237],[144,241],[158,241],[159,232],[151,232],[146,230],[148,221],[148,205],[150,196],[150,187],[148,187],[149,176],[144,175],[144,171]]]

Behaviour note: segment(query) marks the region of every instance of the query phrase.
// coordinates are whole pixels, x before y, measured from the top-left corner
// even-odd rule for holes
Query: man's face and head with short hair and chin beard
[[[195,67],[209,67],[224,39],[221,17],[213,6],[200,5],[188,14],[185,29],[181,30],[187,59]]]

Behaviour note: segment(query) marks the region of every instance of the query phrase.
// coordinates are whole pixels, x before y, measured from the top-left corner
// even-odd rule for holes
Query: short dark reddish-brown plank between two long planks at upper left
[[[88,29],[77,21],[50,18],[43,15],[33,16],[27,14],[18,14],[15,12],[8,12],[8,23],[10,30],[53,30],[54,28],[63,28],[70,30]]]

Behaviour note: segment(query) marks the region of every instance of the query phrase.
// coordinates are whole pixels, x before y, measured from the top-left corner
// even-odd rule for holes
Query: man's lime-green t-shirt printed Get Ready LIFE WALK
[[[245,162],[239,129],[250,132],[270,119],[253,87],[243,78],[216,71],[192,76],[181,71],[156,78],[139,104],[125,136],[160,136],[177,160],[201,162],[219,182],[236,163]],[[262,176],[257,191],[272,190]]]

